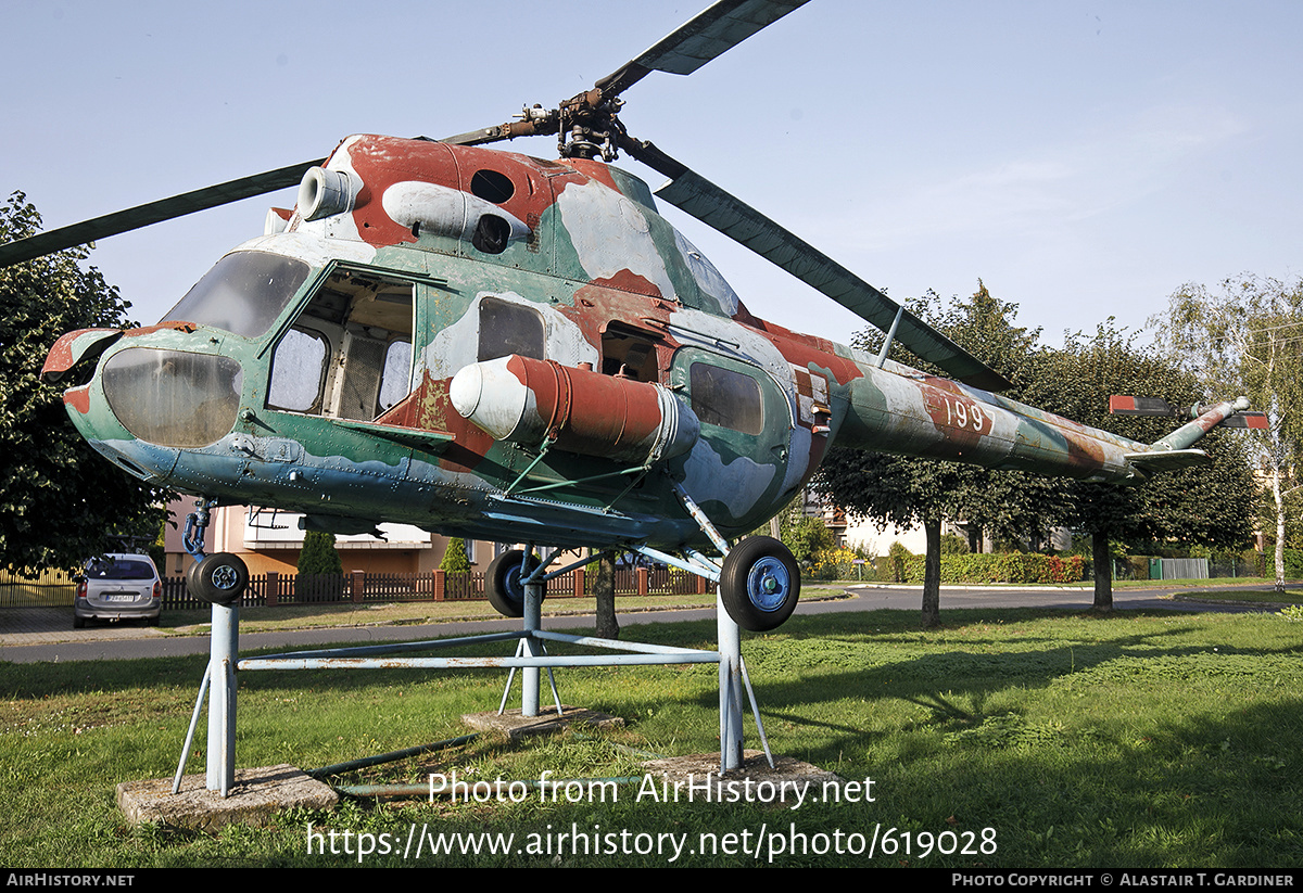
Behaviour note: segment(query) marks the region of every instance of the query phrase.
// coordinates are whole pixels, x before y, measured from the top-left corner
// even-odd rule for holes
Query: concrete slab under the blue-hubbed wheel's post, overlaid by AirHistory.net
[[[694,785],[694,799],[706,799],[704,785],[710,780],[710,799],[717,803],[736,802],[727,799],[736,794],[756,803],[787,803],[791,806],[799,798],[814,797],[823,799],[823,786],[848,784],[840,776],[826,772],[817,765],[803,763],[791,756],[775,756],[774,768],[769,768],[765,754],[758,750],[744,750],[741,765],[719,775],[719,754],[693,754],[692,756],[667,756],[648,760],[642,767],[652,776],[661,776],[672,790],[676,784],[687,791]],[[749,784],[748,784],[749,782]],[[752,794],[745,794],[751,790]],[[863,799],[863,797],[860,798]]]

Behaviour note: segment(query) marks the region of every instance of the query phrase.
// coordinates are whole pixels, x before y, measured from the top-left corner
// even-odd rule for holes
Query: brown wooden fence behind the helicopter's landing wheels
[[[704,595],[713,583],[675,568],[616,568],[616,595]],[[486,599],[482,573],[426,574],[257,574],[249,578],[244,605],[287,605],[352,601],[477,601]],[[547,581],[549,599],[592,598],[589,574],[584,568]],[[184,577],[163,581],[164,608],[202,608],[206,601],[192,596]]]

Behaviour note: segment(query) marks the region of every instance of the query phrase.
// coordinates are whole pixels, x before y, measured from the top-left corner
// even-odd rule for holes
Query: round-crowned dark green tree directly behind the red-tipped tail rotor
[[[1075,422],[1153,443],[1169,433],[1170,418],[1109,415],[1110,394],[1160,397],[1190,406],[1199,397],[1192,376],[1135,335],[1115,328],[1113,319],[1091,338],[1067,337],[1062,350],[1040,357],[1041,371],[1027,388],[1028,402]],[[1208,547],[1238,547],[1248,539],[1253,521],[1252,475],[1237,435],[1214,432],[1199,446],[1210,466],[1154,475],[1141,486],[1068,482],[1062,521],[1089,531],[1095,564],[1097,611],[1113,608],[1111,540],[1169,540]]]

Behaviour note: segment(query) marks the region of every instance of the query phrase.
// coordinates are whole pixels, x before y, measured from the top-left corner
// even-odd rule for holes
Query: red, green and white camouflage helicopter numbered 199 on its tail
[[[689,74],[801,5],[722,0],[555,109],[442,141],[353,135],[291,165],[0,247],[0,263],[300,182],[297,204],[156,325],[65,335],[44,376],[129,474],[201,497],[197,591],[237,599],[205,555],[207,509],[301,512],[558,547],[632,549],[721,583],[743,627],[792,612],[800,574],[754,536],[837,443],[1091,480],[1204,461],[1243,401],[1140,444],[999,397],[1005,380],[885,294],[620,124],[653,70]],[[558,135],[559,160],[482,148]],[[624,152],[668,182],[612,167]],[[305,172],[306,169],[306,172]],[[887,333],[880,355],[749,314],[655,198]],[[886,359],[893,341],[955,380]],[[519,616],[528,558],[500,556]]]

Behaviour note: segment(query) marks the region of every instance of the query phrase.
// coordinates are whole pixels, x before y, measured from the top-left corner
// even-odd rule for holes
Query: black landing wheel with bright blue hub
[[[744,630],[764,633],[792,616],[801,573],[791,549],[770,536],[748,536],[724,556],[719,598]]]

